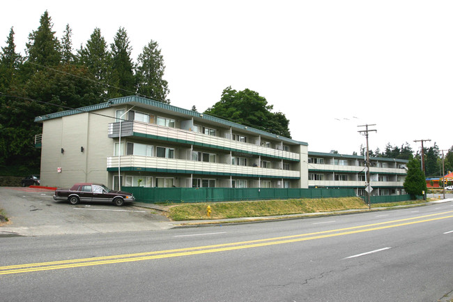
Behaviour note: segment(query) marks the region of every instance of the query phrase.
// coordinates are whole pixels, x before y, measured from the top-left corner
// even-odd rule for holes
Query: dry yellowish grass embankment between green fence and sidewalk
[[[410,206],[423,203],[422,200],[371,204],[371,208],[390,206]],[[208,218],[207,206],[211,213]],[[242,217],[266,217],[302,213],[321,213],[341,210],[367,210],[367,204],[359,197],[287,199],[256,202],[214,202],[197,204],[173,204],[169,206],[168,217],[172,220],[209,220]]]

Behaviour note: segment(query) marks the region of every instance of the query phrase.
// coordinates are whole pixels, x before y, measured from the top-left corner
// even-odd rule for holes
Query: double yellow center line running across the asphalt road
[[[453,218],[453,215],[447,214],[453,211],[443,213],[430,214],[425,216],[417,216],[400,220],[392,220],[387,222],[379,222],[371,225],[360,225],[357,227],[345,227],[342,229],[332,229],[322,232],[313,232],[307,234],[298,234],[291,236],[273,237],[268,239],[257,239],[251,241],[240,241],[233,243],[222,243],[213,246],[197,246],[193,248],[178,248],[174,250],[159,250],[153,252],[139,252],[135,254],[112,255],[104,257],[91,257],[83,259],[69,259],[54,262],[40,262],[32,264],[17,264],[10,266],[0,266],[0,275],[8,275],[13,273],[30,273],[34,271],[51,271],[54,269],[72,269],[82,266],[95,266],[103,264],[117,264],[124,262],[136,262],[151,259],[162,259],[169,257],[181,257],[188,255],[206,254],[209,252],[224,252],[228,250],[240,250],[245,248],[258,248],[261,246],[273,246],[276,244],[293,243],[298,241],[308,241],[314,239],[323,239],[335,236],[344,236],[348,234],[357,234],[362,232],[371,232],[378,229],[390,229],[392,227],[402,227],[404,225],[414,225],[417,223],[429,222],[434,220],[443,220]],[[447,216],[443,216],[447,215]],[[439,217],[441,216],[441,217]]]

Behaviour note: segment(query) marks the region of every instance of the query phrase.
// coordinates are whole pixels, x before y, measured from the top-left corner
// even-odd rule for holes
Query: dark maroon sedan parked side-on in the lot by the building
[[[70,204],[79,202],[113,202],[122,206],[124,202],[134,202],[135,197],[130,192],[110,190],[100,183],[76,183],[70,189],[55,190],[55,200],[67,200]]]

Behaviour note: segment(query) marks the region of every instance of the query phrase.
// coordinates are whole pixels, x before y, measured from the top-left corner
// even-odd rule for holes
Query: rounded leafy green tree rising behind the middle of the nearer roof
[[[272,109],[256,91],[236,91],[229,86],[222,92],[220,102],[204,113],[291,138],[289,120],[281,112],[272,113]]]

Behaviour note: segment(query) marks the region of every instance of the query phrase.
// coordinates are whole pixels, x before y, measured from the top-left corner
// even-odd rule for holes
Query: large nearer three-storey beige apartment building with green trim
[[[307,188],[307,143],[128,96],[37,116],[41,185]]]

